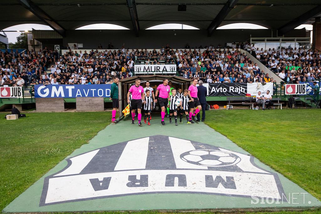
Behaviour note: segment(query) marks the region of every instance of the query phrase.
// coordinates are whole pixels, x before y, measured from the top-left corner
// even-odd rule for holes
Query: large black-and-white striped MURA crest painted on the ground
[[[273,196],[277,174],[254,157],[192,140],[155,135],[102,147],[67,159],[45,178],[40,206],[152,193]]]

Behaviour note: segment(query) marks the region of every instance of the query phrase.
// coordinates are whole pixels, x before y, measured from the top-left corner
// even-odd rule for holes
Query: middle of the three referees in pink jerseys
[[[159,102],[160,108],[161,108],[161,124],[165,125],[164,117],[165,117],[165,111],[168,105],[168,99],[169,99],[169,85],[168,84],[168,79],[164,78],[163,79],[163,84],[160,84],[157,89],[156,89],[156,94],[155,94],[155,103]],[[159,93],[159,96],[158,96]]]

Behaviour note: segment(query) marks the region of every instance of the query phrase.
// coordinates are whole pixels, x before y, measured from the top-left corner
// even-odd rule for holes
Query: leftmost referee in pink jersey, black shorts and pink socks
[[[132,85],[129,88],[129,91],[127,93],[127,103],[129,103],[129,95],[132,94],[132,124],[135,124],[135,111],[137,108],[138,112],[138,126],[143,126],[141,123],[142,120],[142,103],[146,103],[145,96],[144,96],[144,88],[140,85],[140,79],[136,79],[135,85]]]

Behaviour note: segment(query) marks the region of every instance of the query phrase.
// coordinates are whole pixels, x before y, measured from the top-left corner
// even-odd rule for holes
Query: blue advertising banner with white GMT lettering
[[[111,85],[35,85],[36,98],[110,97]]]

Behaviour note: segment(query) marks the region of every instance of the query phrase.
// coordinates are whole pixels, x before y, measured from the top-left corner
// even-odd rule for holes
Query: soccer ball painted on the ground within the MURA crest
[[[241,161],[241,158],[235,154],[213,149],[196,149],[184,152],[180,158],[191,164],[210,167],[230,166]]]

